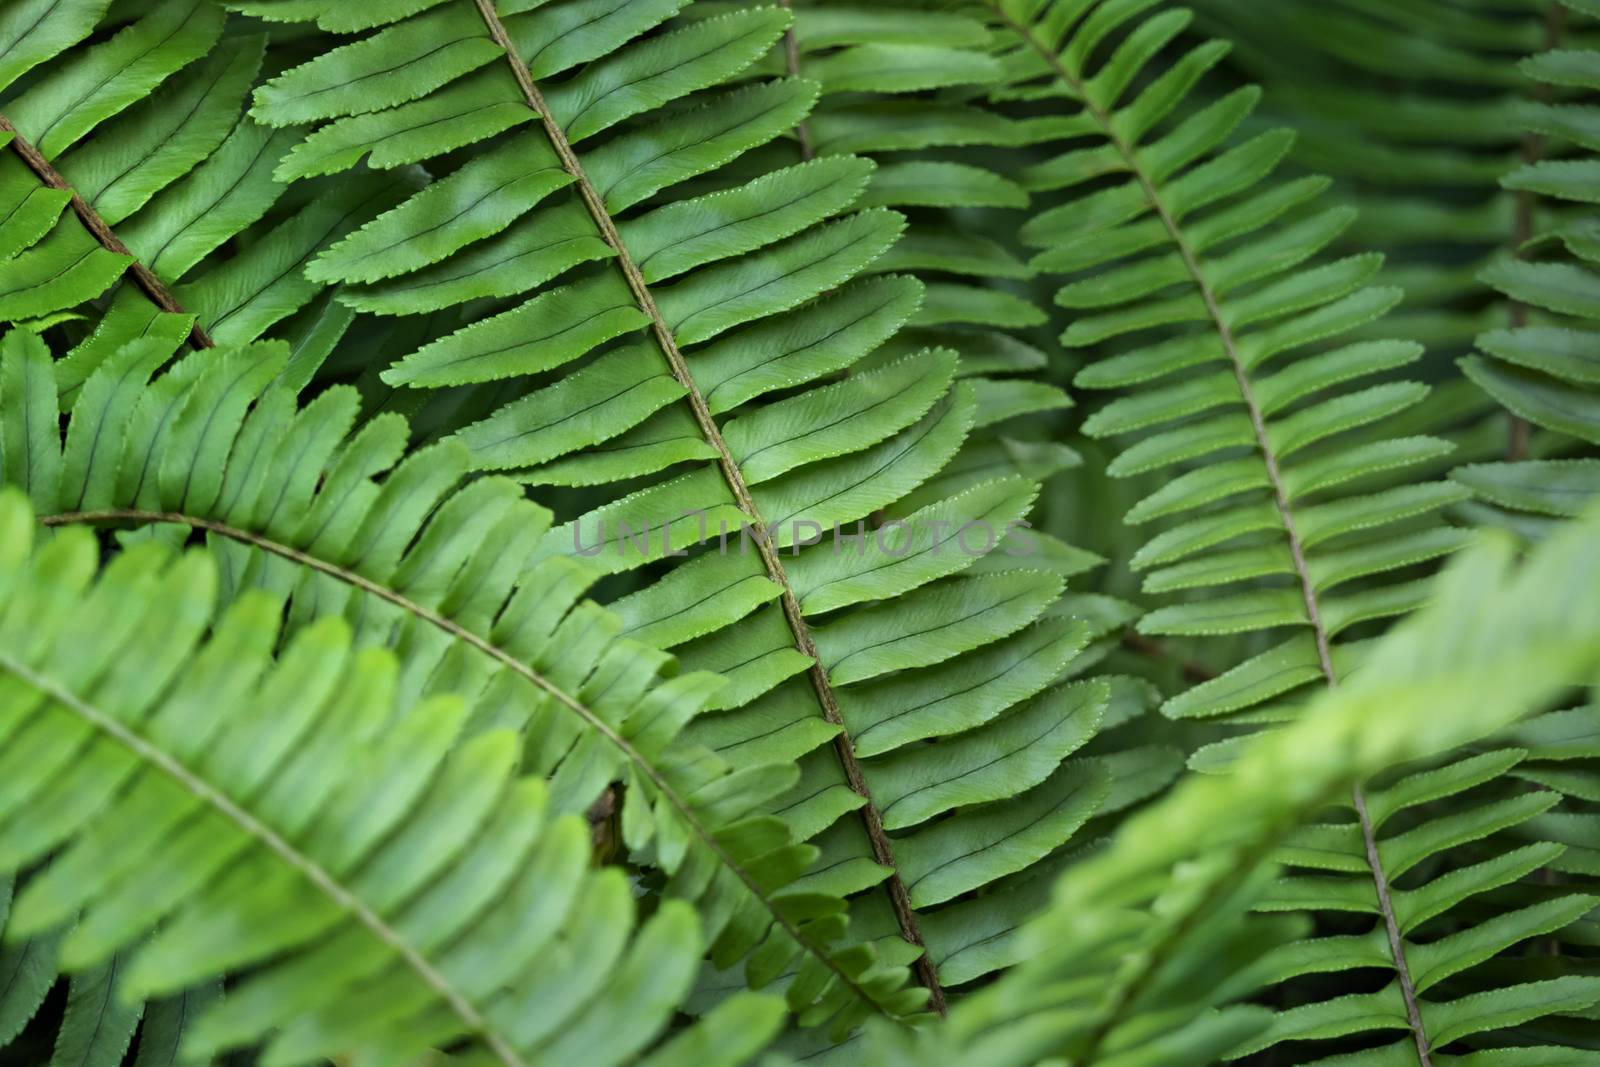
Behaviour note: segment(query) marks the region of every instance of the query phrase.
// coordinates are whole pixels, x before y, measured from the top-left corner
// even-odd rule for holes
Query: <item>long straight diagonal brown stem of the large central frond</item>
[[[595,227],[600,230],[605,243],[616,253],[616,264],[622,270],[622,277],[627,280],[627,288],[632,291],[638,309],[650,318],[650,330],[654,334],[656,342],[661,346],[662,355],[667,357],[667,363],[672,366],[672,376],[686,392],[690,408],[694,413],[694,421],[699,424],[701,434],[717,451],[717,464],[722,467],[723,480],[733,491],[734,502],[739,506],[739,510],[750,518],[752,530],[755,533],[755,547],[766,568],[766,574],[781,589],[779,600],[782,603],[784,616],[789,621],[789,629],[794,633],[795,646],[811,659],[811,669],[808,673],[811,677],[811,688],[816,689],[818,704],[822,707],[822,717],[829,723],[838,726],[838,733],[834,736],[834,749],[837,750],[838,761],[845,769],[845,779],[850,782],[850,789],[867,801],[861,806],[861,821],[866,825],[874,859],[890,869],[886,888],[890,893],[890,902],[894,905],[894,918],[898,920],[901,934],[906,941],[923,950],[923,953],[917,958],[917,974],[923,985],[928,987],[928,1005],[939,1014],[944,1014],[944,990],[939,985],[938,969],[928,957],[926,945],[922,939],[917,913],[910,905],[910,893],[906,889],[906,883],[899,877],[899,867],[894,864],[894,849],[890,845],[888,833],[883,830],[883,819],[878,816],[877,805],[872,803],[872,790],[867,789],[867,779],[861,771],[861,761],[856,758],[856,752],[851,747],[850,734],[845,729],[845,718],[838,712],[838,699],[834,696],[834,686],[827,680],[827,669],[822,665],[822,657],[816,649],[814,638],[811,637],[811,627],[800,613],[800,601],[795,597],[794,587],[789,584],[789,576],[784,573],[784,565],[778,557],[778,545],[766,533],[760,510],[755,507],[755,499],[750,496],[750,490],[744,482],[744,474],[739,470],[739,464],[734,462],[733,453],[722,438],[722,430],[717,427],[717,421],[710,414],[706,397],[701,395],[699,386],[690,373],[688,362],[678,349],[677,338],[672,336],[672,328],[667,326],[666,318],[661,315],[661,309],[656,307],[656,298],[651,294],[643,274],[640,274],[638,266],[629,254],[621,234],[618,234],[616,221],[611,218],[611,213],[606,211],[600,192],[594,187],[594,182],[589,181],[589,174],[578,160],[578,154],[573,152],[573,146],[566,141],[566,133],[550,115],[549,107],[546,107],[544,96],[539,93],[539,86],[534,83],[533,75],[528,70],[528,64],[525,64],[522,56],[517,54],[510,37],[506,34],[506,26],[501,22],[499,14],[496,14],[493,0],[474,2],[478,6],[478,13],[483,16],[483,22],[488,26],[494,43],[506,51],[506,59],[510,62],[517,85],[522,88],[523,101],[539,115],[539,120],[544,125],[544,133],[549,138],[550,146],[555,149],[557,157],[562,160],[562,168],[573,176],[578,195],[589,210]],[[867,1003],[875,1005],[877,1001],[869,998]]]

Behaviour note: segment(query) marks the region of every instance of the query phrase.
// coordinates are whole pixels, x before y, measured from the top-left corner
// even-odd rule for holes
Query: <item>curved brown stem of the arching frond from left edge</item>
[[[650,779],[650,782],[659,790],[659,793],[667,800],[667,803],[672,805],[678,817],[683,819],[683,824],[690,829],[690,833],[696,837],[701,843],[704,843],[710,849],[710,853],[717,857],[717,861],[722,862],[725,867],[728,867],[728,870],[731,870],[734,877],[739,878],[739,881],[744,883],[744,886],[752,894],[755,894],[755,899],[758,899],[768,909],[768,912],[771,912],[773,921],[778,923],[778,926],[782,928],[784,933],[794,937],[795,944],[798,944],[806,952],[821,960],[822,965],[827,966],[834,973],[834,976],[838,977],[840,982],[843,982],[864,1001],[877,1003],[853,977],[845,974],[845,971],[840,969],[837,963],[834,963],[832,957],[821,945],[814,944],[803,931],[800,931],[798,926],[795,926],[790,920],[787,920],[782,913],[779,913],[778,904],[771,899],[771,896],[765,889],[762,889],[762,886],[755,881],[755,877],[750,875],[750,872],[747,872],[744,865],[739,864],[731,854],[728,854],[728,851],[722,846],[722,843],[717,841],[717,838],[712,837],[710,830],[699,821],[699,816],[694,814],[693,808],[690,808],[690,803],[678,795],[678,792],[661,774],[659,768],[656,768],[654,763],[640,755],[640,752],[627,741],[627,737],[619,734],[605,718],[602,718],[586,704],[573,697],[558,685],[546,678],[542,673],[539,673],[528,664],[522,662],[506,649],[499,648],[488,638],[478,637],[477,633],[461,625],[454,619],[443,616],[430,608],[424,608],[422,605],[406,598],[405,595],[395,592],[394,589],[389,589],[387,585],[379,585],[373,579],[357,574],[355,571],[346,569],[336,563],[328,563],[326,560],[318,560],[317,557],[307,552],[301,552],[299,549],[294,549],[291,545],[280,544],[277,541],[262,537],[261,534],[251,533],[248,530],[238,530],[237,526],[229,526],[227,523],[219,523],[211,518],[184,515],[181,512],[104,509],[93,512],[64,512],[59,515],[45,515],[38,522],[43,526],[72,526],[72,525],[99,525],[99,523],[178,523],[181,526],[189,526],[192,530],[203,530],[206,533],[218,534],[219,537],[227,537],[229,541],[238,541],[240,544],[253,545],[256,549],[261,549],[262,552],[277,555],[280,558],[298,563],[307,569],[317,571],[318,574],[326,574],[334,581],[354,585],[355,589],[360,589],[365,593],[378,597],[379,600],[400,608],[402,611],[421,619],[422,622],[427,622],[429,625],[442,630],[443,633],[448,633],[458,641],[462,641],[464,645],[475,648],[477,651],[483,653],[485,656],[502,665],[506,670],[510,670],[520,678],[549,693],[557,701],[557,704],[562,704],[570,712],[578,715],[581,720],[584,720],[584,723],[590,729],[597,731],[611,745],[614,745],[618,752],[621,752],[622,757],[630,765],[634,765],[634,768],[640,774]]]

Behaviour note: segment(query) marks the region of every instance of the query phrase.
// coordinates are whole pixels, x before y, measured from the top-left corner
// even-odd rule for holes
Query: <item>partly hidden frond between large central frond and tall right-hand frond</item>
[[[765,155],[856,154],[877,163],[859,203],[899,211],[906,232],[869,270],[915,274],[923,301],[870,363],[950,347],[973,387],[973,434],[914,502],[998,474],[1045,482],[1078,466],[1054,432],[1059,419],[1048,418],[1072,400],[1038,381],[1048,357],[1037,328],[1046,315],[1024,288],[1034,272],[1005,240],[1027,194],[995,165],[973,162],[1048,139],[1059,120],[1002,115],[971,99],[1002,75],[987,54],[992,34],[978,18],[912,6],[786,6],[794,26],[765,66],[814,78],[819,98],[795,126],[797,144],[771,142]],[[701,10],[718,6],[701,0],[691,8]]]

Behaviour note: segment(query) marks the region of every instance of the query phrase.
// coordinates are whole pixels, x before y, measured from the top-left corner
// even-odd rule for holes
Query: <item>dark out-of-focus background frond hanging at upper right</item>
[[[1560,3],[1194,6],[1235,40],[1229,62],[1266,85],[1266,107],[1293,117],[1291,160],[1360,205],[1346,245],[1384,251],[1405,290],[1389,330],[1443,357],[1515,314],[1475,272],[1531,234],[1533,205],[1499,182],[1544,152],[1526,139],[1539,93],[1517,62],[1563,35]]]

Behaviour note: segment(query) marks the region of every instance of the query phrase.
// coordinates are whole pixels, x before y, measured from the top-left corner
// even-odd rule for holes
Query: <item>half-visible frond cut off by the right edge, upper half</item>
[[[1477,339],[1480,355],[1461,362],[1467,378],[1504,405],[1515,418],[1550,430],[1558,445],[1546,445],[1539,459],[1512,454],[1509,462],[1459,467],[1451,477],[1488,504],[1531,517],[1576,515],[1600,494],[1600,371],[1587,346],[1595,338],[1590,323],[1600,318],[1600,282],[1592,269],[1595,246],[1592,205],[1600,198],[1600,170],[1592,154],[1600,149],[1586,126],[1594,114],[1590,98],[1570,93],[1600,90],[1600,53],[1558,48],[1531,56],[1522,72],[1544,96],[1526,110],[1530,136],[1552,142],[1552,158],[1525,163],[1502,179],[1522,198],[1549,202],[1549,221],[1530,234],[1528,245],[1544,250],[1536,261],[1502,258],[1480,275],[1518,309],[1518,322]],[[1520,528],[1538,533],[1539,518]]]

